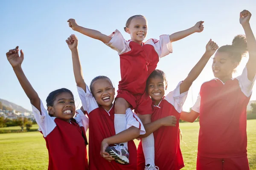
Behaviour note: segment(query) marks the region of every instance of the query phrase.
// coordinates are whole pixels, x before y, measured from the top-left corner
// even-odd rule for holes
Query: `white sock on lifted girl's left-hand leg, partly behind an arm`
[[[126,130],[126,116],[125,114],[115,114],[114,125],[116,134]],[[128,149],[128,142],[122,143]]]

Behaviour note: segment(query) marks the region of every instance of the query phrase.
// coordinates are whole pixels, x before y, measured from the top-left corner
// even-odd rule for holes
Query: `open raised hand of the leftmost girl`
[[[6,53],[6,57],[10,64],[12,65],[13,68],[17,67],[18,65],[21,65],[24,59],[24,54],[23,51],[20,50],[20,55],[19,55],[19,46],[16,48],[9,50],[9,52]]]

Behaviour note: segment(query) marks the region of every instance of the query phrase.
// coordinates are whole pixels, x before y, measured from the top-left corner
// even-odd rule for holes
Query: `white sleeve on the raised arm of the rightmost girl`
[[[253,78],[253,81],[250,81],[247,77],[247,67],[245,66],[243,73],[236,77],[239,81],[239,86],[241,88],[241,91],[244,93],[245,96],[249,97],[252,94],[253,91],[253,85],[256,79],[256,75]]]

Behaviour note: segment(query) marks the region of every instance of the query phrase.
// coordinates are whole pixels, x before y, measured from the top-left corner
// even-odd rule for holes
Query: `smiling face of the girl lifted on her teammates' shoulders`
[[[126,32],[131,35],[131,40],[141,45],[148,33],[147,20],[144,17],[134,17],[126,28]]]

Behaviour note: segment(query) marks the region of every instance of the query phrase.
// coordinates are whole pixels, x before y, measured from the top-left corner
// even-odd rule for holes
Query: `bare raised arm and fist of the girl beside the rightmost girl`
[[[180,84],[180,94],[189,90],[192,83],[202,72],[210,57],[212,57],[212,55],[215,53],[217,49],[218,45],[215,42],[213,42],[212,39],[210,39],[206,45],[206,51],[204,55],[201,57],[198,63],[192,68],[186,79]]]

